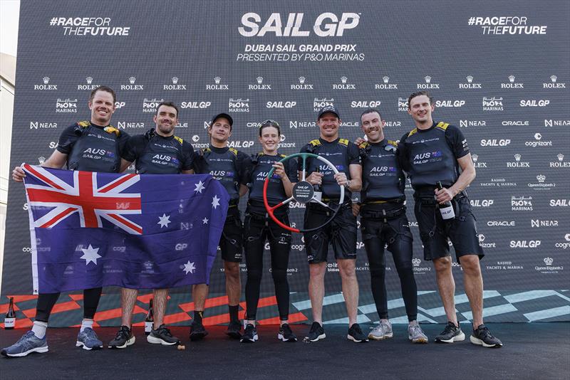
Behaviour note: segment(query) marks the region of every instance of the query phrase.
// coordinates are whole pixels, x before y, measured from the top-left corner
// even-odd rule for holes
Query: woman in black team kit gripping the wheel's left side
[[[277,307],[279,308],[278,339],[283,342],[296,342],[297,338],[289,327],[289,283],[287,282],[287,266],[291,250],[291,232],[279,227],[268,215],[263,201],[263,187],[267,173],[275,168],[269,179],[267,201],[271,206],[291,196],[293,184],[297,181],[296,162],[290,159],[287,167],[279,162],[285,156],[277,153],[281,130],[273,120],[266,120],[259,127],[259,142],[263,152],[252,157],[252,177],[249,188],[249,201],[244,221],[244,246],[247,264],[247,283],[245,300],[247,303],[247,326],[242,342],[255,342],[257,330],[255,317],[259,301],[259,286],[263,271],[263,253],[266,239],[271,249],[271,276],[275,284]],[[285,224],[289,224],[288,207],[276,209],[275,216]]]

